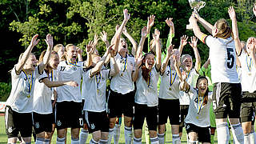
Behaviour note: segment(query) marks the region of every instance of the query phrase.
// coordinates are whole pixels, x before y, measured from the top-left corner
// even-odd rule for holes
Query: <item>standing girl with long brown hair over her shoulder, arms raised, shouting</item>
[[[136,58],[133,80],[137,91],[134,104],[134,144],[142,143],[142,126],[146,118],[150,130],[150,142],[158,143],[158,77],[161,68],[161,49],[159,43],[160,32],[154,31],[156,42],[156,64],[154,54],[146,53]],[[142,66],[141,66],[142,65]]]

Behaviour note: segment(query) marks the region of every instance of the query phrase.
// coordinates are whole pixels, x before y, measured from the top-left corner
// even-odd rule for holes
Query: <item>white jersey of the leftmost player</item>
[[[45,77],[39,74],[38,66],[32,72],[32,75],[26,74],[23,70],[17,75],[15,70],[11,70],[11,91],[6,101],[6,106],[18,113],[31,113],[33,111],[34,83]]]

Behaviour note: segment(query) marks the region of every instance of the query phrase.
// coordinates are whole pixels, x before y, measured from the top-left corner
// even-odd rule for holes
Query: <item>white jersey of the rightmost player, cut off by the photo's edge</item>
[[[253,60],[244,50],[238,57],[241,63],[242,91],[253,93],[256,90],[256,70]]]

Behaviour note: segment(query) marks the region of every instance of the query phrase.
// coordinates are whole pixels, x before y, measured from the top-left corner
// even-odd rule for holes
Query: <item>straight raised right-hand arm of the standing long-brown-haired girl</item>
[[[161,46],[160,46],[160,31],[158,29],[154,30],[154,42],[156,42],[156,68],[161,69]]]

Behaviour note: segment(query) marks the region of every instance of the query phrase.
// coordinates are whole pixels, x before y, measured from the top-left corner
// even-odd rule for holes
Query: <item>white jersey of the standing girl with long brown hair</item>
[[[150,81],[146,82],[142,77],[142,69],[138,71],[138,79],[136,81],[135,102],[138,104],[145,104],[147,106],[158,106],[158,78],[155,66],[150,72]]]

